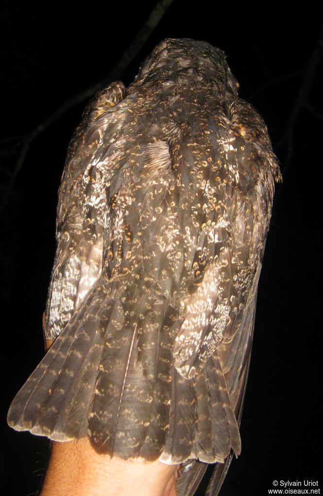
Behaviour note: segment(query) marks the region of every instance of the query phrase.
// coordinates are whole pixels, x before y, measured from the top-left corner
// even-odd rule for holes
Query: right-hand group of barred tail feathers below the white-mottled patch
[[[195,378],[182,377],[175,369],[172,374],[169,430],[160,460],[222,463],[231,448],[238,455],[239,428],[217,355]]]

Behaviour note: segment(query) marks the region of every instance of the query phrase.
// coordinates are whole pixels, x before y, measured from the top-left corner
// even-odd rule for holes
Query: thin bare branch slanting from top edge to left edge
[[[10,176],[10,180],[8,182],[8,185],[6,187],[6,191],[3,194],[1,205],[0,205],[0,214],[2,213],[2,210],[10,197],[12,188],[14,186],[14,183],[16,181],[16,178],[20,172],[20,170],[23,167],[26,155],[28,153],[30,144],[32,141],[39,135],[41,134],[48,126],[56,122],[58,119],[60,119],[66,112],[74,107],[75,105],[78,105],[79,103],[88,100],[96,91],[99,89],[103,88],[107,84],[109,84],[111,81],[115,79],[119,79],[120,76],[123,74],[123,72],[126,70],[128,67],[129,63],[136,57],[136,55],[139,53],[141,48],[144,46],[146,43],[147,39],[149,36],[152,34],[158,23],[160,22],[162,16],[164,15],[165,11],[169,7],[169,5],[172,3],[172,0],[160,0],[156,3],[155,7],[153,8],[152,12],[150,13],[149,17],[141,27],[139,33],[136,35],[136,37],[133,39],[131,42],[130,46],[127,48],[127,50],[123,53],[121,56],[119,62],[113,67],[113,69],[108,73],[108,75],[102,79],[101,81],[98,81],[97,83],[93,84],[89,88],[81,91],[77,95],[73,96],[69,100],[63,103],[61,107],[59,107],[53,114],[48,116],[43,122],[38,124],[32,131],[30,131],[28,134],[25,136],[19,136],[19,144],[22,146],[21,151],[18,157],[18,160],[16,162],[15,168]],[[9,141],[9,140],[14,140],[15,137],[12,138],[5,138],[4,141]]]

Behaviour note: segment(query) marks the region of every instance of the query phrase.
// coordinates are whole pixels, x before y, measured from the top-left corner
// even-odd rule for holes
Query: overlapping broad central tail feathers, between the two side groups
[[[137,324],[130,327],[126,322],[122,335],[111,330],[106,333],[88,429],[100,449],[122,458],[140,455],[152,460],[161,454],[167,432],[172,359],[169,328],[175,314],[166,299],[147,305],[140,295],[134,293],[132,298],[136,298],[132,321]],[[148,329],[150,339],[143,337]]]

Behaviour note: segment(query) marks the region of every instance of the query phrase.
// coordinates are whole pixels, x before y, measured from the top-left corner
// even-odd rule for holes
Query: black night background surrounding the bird
[[[1,469],[10,494],[34,495],[44,438],[6,426],[14,394],[43,356],[42,313],[55,251],[57,190],[85,101],[38,133],[13,187],[26,136],[78,92],[104,80],[150,13],[134,2],[17,5],[1,27]],[[259,283],[242,416],[242,454],[222,496],[266,495],[273,480],[319,480],[322,306],[322,11],[313,2],[174,0],[120,77],[126,85],[166,37],[226,52],[242,98],[264,117],[281,162]],[[13,138],[7,140],[6,138]],[[304,489],[304,487],[302,487]],[[323,490],[321,486],[321,491]]]

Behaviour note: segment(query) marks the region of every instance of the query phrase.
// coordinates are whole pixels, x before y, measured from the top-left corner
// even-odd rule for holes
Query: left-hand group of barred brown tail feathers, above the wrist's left
[[[8,412],[8,423],[14,429],[60,441],[75,437],[66,433],[65,414],[71,407],[86,356],[94,349],[95,325],[89,327],[90,332],[83,327],[87,311],[88,305],[71,319],[17,393]]]

